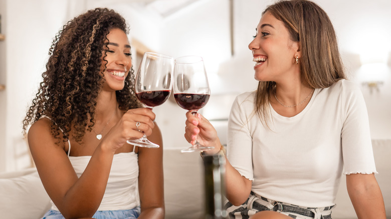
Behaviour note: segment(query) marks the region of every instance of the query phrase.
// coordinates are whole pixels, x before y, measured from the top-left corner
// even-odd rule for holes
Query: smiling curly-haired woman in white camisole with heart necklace
[[[162,137],[155,114],[134,95],[127,32],[121,15],[96,8],[53,41],[24,119],[52,200],[44,218],[164,217]],[[160,147],[126,143],[142,132]]]

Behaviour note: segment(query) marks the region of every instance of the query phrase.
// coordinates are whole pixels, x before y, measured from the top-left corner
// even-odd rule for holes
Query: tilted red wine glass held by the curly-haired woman
[[[145,104],[145,107],[152,109],[168,99],[171,92],[172,70],[174,58],[168,55],[145,52],[135,80],[135,93],[137,98]],[[126,141],[140,147],[159,147],[146,138],[146,134],[139,139]]]

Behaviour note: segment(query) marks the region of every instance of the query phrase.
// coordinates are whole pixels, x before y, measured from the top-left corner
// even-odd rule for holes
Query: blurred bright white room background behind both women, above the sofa
[[[349,78],[364,95],[373,139],[391,138],[391,1],[314,0],[330,16]],[[133,65],[144,51],[201,55],[211,98],[200,111],[226,141],[235,96],[257,87],[248,44],[274,0],[0,0],[0,172],[31,166],[22,120],[45,71],[53,38],[95,7],[121,13],[130,26]],[[153,109],[164,148],[185,148],[185,110],[172,97]]]

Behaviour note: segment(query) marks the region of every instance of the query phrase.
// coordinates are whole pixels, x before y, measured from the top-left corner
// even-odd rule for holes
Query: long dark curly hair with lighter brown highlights
[[[52,120],[51,130],[60,142],[72,137],[81,142],[86,130],[95,125],[95,108],[98,93],[104,78],[102,61],[108,49],[107,34],[112,28],[128,33],[125,19],[108,8],[95,8],[73,18],[63,26],[49,49],[43,81],[33,99],[25,119],[23,131],[40,119],[48,116]],[[103,71],[104,71],[103,70]],[[134,70],[130,69],[122,90],[116,91],[118,107],[121,110],[140,107],[134,94]]]

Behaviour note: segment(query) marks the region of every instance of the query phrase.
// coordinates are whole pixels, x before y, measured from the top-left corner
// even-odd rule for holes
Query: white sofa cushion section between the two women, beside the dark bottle
[[[183,145],[188,147],[190,144]],[[195,219],[204,213],[204,164],[200,152],[163,150],[165,218]]]

